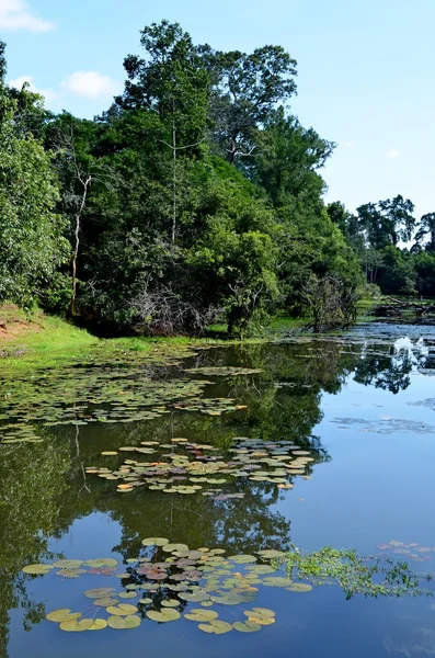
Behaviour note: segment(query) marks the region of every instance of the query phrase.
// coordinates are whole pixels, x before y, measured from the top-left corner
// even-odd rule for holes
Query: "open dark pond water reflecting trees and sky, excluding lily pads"
[[[214,382],[206,397],[234,398],[245,410],[48,427],[41,429],[42,443],[0,445],[1,658],[434,655],[435,599],[347,601],[337,587],[302,594],[260,587],[255,604],[276,611],[276,623],[253,634],[206,635],[185,620],[66,634],[45,620],[58,608],[80,610],[84,589],[119,589],[119,580],[31,577],[21,572],[24,565],[57,556],[112,556],[123,564],[147,536],[231,554],[290,542],[306,551],[332,545],[363,554],[391,540],[435,547],[434,328],[379,325],[340,339],[210,349],[185,365],[263,373],[205,377]],[[113,481],[85,473],[107,465],[102,451],[173,436],[222,450],[234,436],[289,440],[314,461],[309,477],[293,478],[291,490],[243,479],[221,487],[245,495],[230,500],[145,487],[121,495]],[[431,559],[411,561],[413,569],[435,571],[435,553],[417,555]]]

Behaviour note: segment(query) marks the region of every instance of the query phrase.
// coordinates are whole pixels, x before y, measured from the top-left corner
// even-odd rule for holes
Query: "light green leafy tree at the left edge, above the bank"
[[[30,306],[65,261],[59,188],[50,154],[31,134],[16,135],[16,103],[0,87],[0,300]]]

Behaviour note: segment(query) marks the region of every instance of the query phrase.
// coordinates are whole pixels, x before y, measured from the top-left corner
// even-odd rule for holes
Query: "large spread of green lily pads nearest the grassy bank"
[[[148,367],[181,366],[181,352],[165,356],[147,353]],[[39,442],[38,426],[84,426],[91,422],[133,422],[158,418],[171,409],[221,416],[244,409],[230,398],[205,399],[210,382],[191,377],[156,379],[144,364],[128,355],[104,362],[44,370],[32,377],[4,381],[0,400],[0,443]],[[249,368],[192,368],[188,374],[251,374]]]

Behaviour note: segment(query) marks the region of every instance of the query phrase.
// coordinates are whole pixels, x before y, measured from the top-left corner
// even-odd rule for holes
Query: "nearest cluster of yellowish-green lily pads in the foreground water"
[[[275,622],[275,612],[254,605],[257,586],[308,592],[305,582],[294,582],[279,572],[281,551],[263,549],[256,555],[226,556],[222,548],[191,549],[165,537],[142,540],[144,555],[126,560],[125,571],[117,572],[114,558],[91,560],[60,559],[53,564],[28,565],[25,574],[64,578],[100,574],[119,578],[123,589],[87,589],[91,601],[81,611],[69,608],[46,615],[61,631],[102,631],[105,627],[131,629],[145,620],[157,623],[185,619],[198,624],[204,633],[221,635],[230,631],[253,633]],[[125,600],[128,600],[126,602]],[[188,605],[194,608],[190,609]],[[231,611],[221,619],[227,606]]]

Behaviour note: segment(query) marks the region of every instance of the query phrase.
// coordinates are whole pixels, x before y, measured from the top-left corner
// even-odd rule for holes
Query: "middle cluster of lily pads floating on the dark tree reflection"
[[[243,494],[222,492],[216,488],[229,478],[245,478],[257,483],[272,483],[281,489],[293,488],[295,476],[307,477],[307,466],[314,461],[311,453],[290,441],[265,443],[237,436],[224,458],[216,455],[219,449],[193,443],[184,438],[173,438],[170,443],[142,441],[138,446],[123,446],[119,453],[146,455],[129,458],[111,469],[106,466],[88,466],[87,473],[117,483],[119,492],[146,486],[164,494],[196,494],[226,498],[242,498]],[[170,451],[170,452],[168,452]],[[103,456],[116,457],[116,451],[104,451]],[[210,485],[213,490],[210,491]]]

